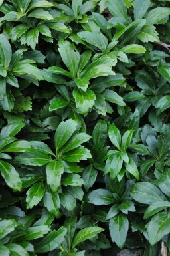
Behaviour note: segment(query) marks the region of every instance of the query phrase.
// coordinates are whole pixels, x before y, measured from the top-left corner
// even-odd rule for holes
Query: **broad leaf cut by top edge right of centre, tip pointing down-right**
[[[128,19],[128,12],[124,0],[120,0],[119,2],[116,0],[106,0],[106,5],[114,17],[123,17]]]

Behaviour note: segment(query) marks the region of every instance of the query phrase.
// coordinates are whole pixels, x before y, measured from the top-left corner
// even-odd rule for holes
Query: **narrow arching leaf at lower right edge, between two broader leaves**
[[[152,203],[144,214],[144,219],[148,219],[149,217],[155,215],[155,213],[158,213],[159,211],[163,211],[166,208],[170,207],[169,201],[155,201],[155,203]]]

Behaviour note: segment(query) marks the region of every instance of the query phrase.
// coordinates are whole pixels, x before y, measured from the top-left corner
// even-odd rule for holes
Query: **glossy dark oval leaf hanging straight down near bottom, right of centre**
[[[115,242],[122,249],[126,241],[129,229],[129,221],[126,215],[120,213],[116,217],[110,219],[109,223],[110,235],[112,242]]]

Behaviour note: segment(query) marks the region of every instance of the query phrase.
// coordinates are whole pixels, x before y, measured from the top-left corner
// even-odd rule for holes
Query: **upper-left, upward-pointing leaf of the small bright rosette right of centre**
[[[118,128],[116,128],[114,124],[109,125],[108,135],[112,144],[114,144],[114,146],[116,146],[116,148],[120,150],[121,135],[120,131],[118,130]]]

